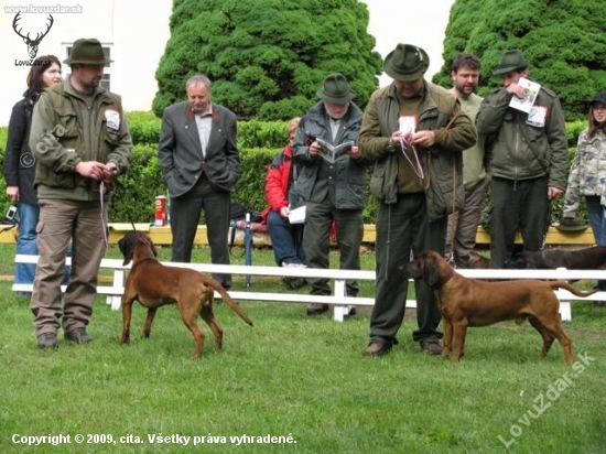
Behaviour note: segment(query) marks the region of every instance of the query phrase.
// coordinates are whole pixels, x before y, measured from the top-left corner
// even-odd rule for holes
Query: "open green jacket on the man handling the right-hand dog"
[[[401,153],[401,150],[390,151],[388,145],[391,134],[399,129],[399,115],[396,86],[390,84],[379,88],[366,106],[358,138],[362,156],[375,162],[370,192],[385,204],[394,204],[398,199],[398,153]],[[445,130],[446,126],[448,126],[447,130]],[[428,218],[432,221],[452,213],[453,188],[455,208],[463,206],[465,193],[462,152],[476,143],[476,129],[453,94],[437,85],[424,82],[416,130],[433,130],[436,134],[433,147],[429,149],[416,147],[423,171],[430,176],[425,195]],[[453,167],[456,170],[455,182],[453,182]]]

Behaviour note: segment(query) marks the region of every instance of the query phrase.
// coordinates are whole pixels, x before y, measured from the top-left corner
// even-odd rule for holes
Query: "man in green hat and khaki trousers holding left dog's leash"
[[[97,274],[107,248],[108,193],[128,170],[132,140],[118,95],[99,87],[109,64],[98,40],[74,43],[72,73],[46,88],[32,117],[40,223],[31,309],[37,345],[57,348],[57,331],[86,344]],[[62,306],[61,281],[72,240],[72,273]]]

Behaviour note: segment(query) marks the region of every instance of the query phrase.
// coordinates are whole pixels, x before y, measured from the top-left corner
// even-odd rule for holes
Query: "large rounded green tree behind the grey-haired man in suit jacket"
[[[284,120],[316,102],[334,72],[364,107],[381,72],[368,9],[357,0],[175,0],[170,26],[155,74],[159,116],[184,99],[194,74],[206,74],[213,99],[240,118]]]

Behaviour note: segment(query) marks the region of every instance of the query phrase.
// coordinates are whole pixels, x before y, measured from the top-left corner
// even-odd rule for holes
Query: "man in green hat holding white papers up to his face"
[[[523,249],[543,248],[551,201],[566,187],[567,142],[564,114],[553,91],[540,87],[529,111],[511,107],[524,99],[528,61],[519,50],[507,51],[493,72],[502,87],[488,95],[477,116],[478,134],[487,137],[491,175],[490,266],[511,259],[518,230]],[[516,104],[515,104],[516,105]]]

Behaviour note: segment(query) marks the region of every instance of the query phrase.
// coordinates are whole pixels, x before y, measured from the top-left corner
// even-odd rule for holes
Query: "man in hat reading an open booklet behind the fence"
[[[306,205],[303,249],[312,268],[329,268],[331,230],[336,225],[340,269],[360,269],[366,161],[355,143],[362,111],[351,101],[354,96],[343,74],[328,75],[317,90],[320,101],[299,122],[292,147],[302,166],[295,184]],[[343,153],[334,160],[322,156],[326,149],[342,144]],[[309,281],[312,294],[331,294],[327,279]],[[356,281],[347,281],[346,288],[347,295],[357,295]],[[307,315],[327,310],[327,304],[311,304]]]

